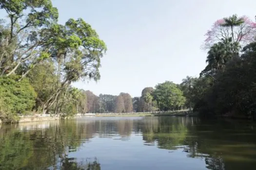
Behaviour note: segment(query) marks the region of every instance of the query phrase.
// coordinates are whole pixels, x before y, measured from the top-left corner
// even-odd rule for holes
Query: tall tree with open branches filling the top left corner
[[[45,33],[57,22],[58,10],[51,0],[0,0],[0,9],[9,19],[0,30],[0,76],[14,74],[21,65],[26,75],[50,56]]]

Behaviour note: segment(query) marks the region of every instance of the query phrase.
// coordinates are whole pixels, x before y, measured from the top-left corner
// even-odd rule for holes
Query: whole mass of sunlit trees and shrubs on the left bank
[[[100,78],[105,43],[83,19],[58,24],[51,0],[0,0],[0,117],[84,112],[86,94],[71,86]]]

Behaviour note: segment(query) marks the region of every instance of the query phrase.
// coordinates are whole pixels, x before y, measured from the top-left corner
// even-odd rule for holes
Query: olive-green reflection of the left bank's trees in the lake
[[[86,128],[92,123],[76,124],[73,121],[52,123],[47,129],[19,131],[19,126],[2,126],[0,129],[0,169],[47,169],[55,167],[63,154],[76,151],[81,139],[92,134]]]

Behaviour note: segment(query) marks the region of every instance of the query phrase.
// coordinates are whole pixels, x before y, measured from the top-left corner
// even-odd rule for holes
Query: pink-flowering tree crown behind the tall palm
[[[205,34],[206,39],[203,49],[209,49],[213,44],[232,37],[233,43],[239,43],[242,47],[255,41],[256,22],[249,17],[224,17],[218,19],[210,30]]]

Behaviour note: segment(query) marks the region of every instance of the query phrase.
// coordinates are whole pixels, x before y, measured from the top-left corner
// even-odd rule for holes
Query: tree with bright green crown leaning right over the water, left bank
[[[105,43],[98,38],[98,34],[84,20],[69,19],[65,26],[54,25],[49,36],[53,59],[65,58],[60,66],[63,75],[62,81],[56,92],[44,104],[48,110],[59,99],[59,94],[72,82],[79,79],[100,78],[100,58],[107,50]]]

